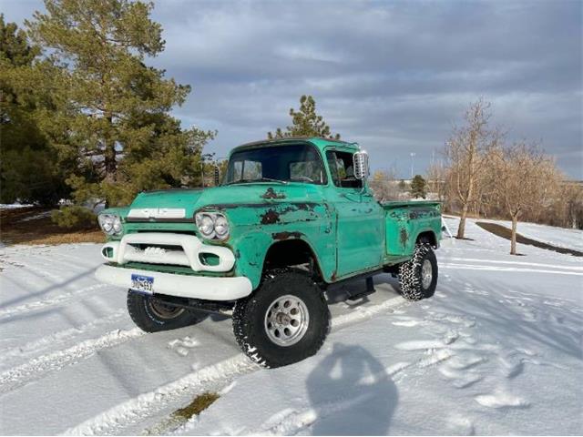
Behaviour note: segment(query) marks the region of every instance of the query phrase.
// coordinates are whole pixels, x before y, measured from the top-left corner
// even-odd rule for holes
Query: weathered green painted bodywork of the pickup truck
[[[413,254],[417,237],[423,232],[433,233],[439,241],[441,211],[438,202],[379,204],[367,186],[336,187],[332,184],[326,150],[353,153],[359,147],[322,138],[288,139],[280,143],[283,146],[298,141],[316,147],[327,173],[327,184],[250,182],[217,188],[146,192],[140,193],[128,208],[111,208],[104,212],[122,216],[124,233],[171,231],[199,238],[194,214],[200,210],[224,213],[230,224],[229,239],[204,239],[204,242],[232,249],[236,258],[234,271],[223,276],[246,276],[254,288],[259,286],[268,250],[289,239],[305,242],[327,282],[403,262]],[[261,144],[264,145],[237,147],[231,154],[243,147],[261,147]],[[272,146],[273,142],[269,144]],[[185,208],[186,219],[133,222],[127,219],[130,208]],[[186,273],[178,267],[147,264],[139,267],[152,270],[163,267],[165,271]]]

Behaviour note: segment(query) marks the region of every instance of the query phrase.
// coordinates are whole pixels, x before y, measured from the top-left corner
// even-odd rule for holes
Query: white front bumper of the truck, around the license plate
[[[251,280],[244,276],[211,277],[179,275],[142,269],[126,269],[103,265],[95,276],[101,282],[131,289],[131,275],[148,276],[154,279],[154,293],[202,300],[238,300],[249,296]]]

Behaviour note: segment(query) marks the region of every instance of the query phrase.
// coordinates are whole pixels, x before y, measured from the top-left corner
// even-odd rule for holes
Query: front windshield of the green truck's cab
[[[326,172],[317,150],[309,144],[257,147],[231,155],[226,184],[261,180],[322,185]]]

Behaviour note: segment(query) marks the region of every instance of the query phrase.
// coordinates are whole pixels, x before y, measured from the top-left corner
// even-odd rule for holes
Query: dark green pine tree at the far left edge
[[[0,201],[55,204],[66,196],[65,176],[38,127],[36,102],[19,82],[40,50],[0,15]]]

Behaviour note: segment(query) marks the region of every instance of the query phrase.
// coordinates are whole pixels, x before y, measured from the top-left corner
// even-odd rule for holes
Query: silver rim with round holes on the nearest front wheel
[[[271,302],[265,313],[265,332],[271,341],[283,347],[292,346],[302,340],[310,314],[303,300],[286,294]]]

